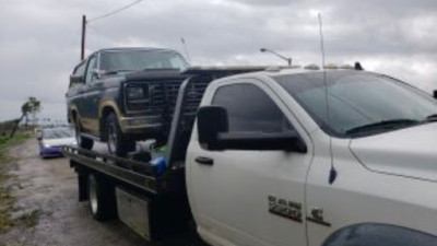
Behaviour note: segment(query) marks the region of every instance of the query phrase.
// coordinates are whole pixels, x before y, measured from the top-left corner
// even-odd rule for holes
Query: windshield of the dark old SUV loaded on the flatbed
[[[104,51],[99,65],[104,71],[182,70],[187,67],[187,61],[179,54],[162,50]]]

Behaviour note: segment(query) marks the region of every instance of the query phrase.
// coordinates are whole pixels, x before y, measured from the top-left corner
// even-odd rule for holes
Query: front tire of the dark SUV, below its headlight
[[[126,157],[128,152],[135,150],[135,141],[123,136],[117,117],[110,113],[106,118],[106,131],[108,136],[108,151],[120,157]]]

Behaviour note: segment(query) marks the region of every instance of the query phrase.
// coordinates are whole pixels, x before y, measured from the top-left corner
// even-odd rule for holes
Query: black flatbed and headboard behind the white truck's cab
[[[267,67],[193,67],[184,72],[190,77],[179,87],[164,173],[156,171],[162,166],[149,162],[63,147],[63,155],[70,159],[70,166],[78,173],[79,201],[90,200],[94,219],[106,221],[118,216],[149,241],[185,231],[192,220],[185,184],[185,157],[196,118],[196,115],[184,114],[185,103],[202,97],[206,85],[215,79],[264,69]],[[191,90],[196,86],[203,92]],[[142,154],[146,153],[137,156]]]

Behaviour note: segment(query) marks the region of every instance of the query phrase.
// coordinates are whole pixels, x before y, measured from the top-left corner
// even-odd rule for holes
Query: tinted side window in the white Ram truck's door
[[[215,92],[212,104],[226,108],[229,132],[285,132],[293,129],[269,95],[252,84],[224,85]]]

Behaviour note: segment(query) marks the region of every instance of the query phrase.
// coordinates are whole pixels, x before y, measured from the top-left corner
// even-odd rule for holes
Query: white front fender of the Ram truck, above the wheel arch
[[[373,172],[350,151],[351,140],[332,139],[338,177],[329,185],[329,139],[321,130],[311,137],[316,152],[307,179],[307,215],[311,208],[323,208],[331,227],[308,222],[309,246],[320,246],[341,227],[367,222],[437,235],[436,183]]]

